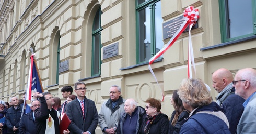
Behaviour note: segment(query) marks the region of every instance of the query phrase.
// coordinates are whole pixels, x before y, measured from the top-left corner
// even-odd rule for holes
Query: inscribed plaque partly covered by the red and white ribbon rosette
[[[165,22],[164,24],[162,24],[162,34],[164,39],[167,39],[169,37],[172,37],[180,28],[180,26],[182,25],[182,23],[184,22],[184,18],[183,15],[180,17],[177,17],[173,20],[170,20],[168,22]],[[198,28],[198,23],[196,23],[192,29]],[[184,30],[184,32],[188,32],[189,31],[189,26]],[[184,33],[183,32],[183,33]]]

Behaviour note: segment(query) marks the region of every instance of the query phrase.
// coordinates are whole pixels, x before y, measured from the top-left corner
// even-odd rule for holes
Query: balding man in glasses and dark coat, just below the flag
[[[37,133],[36,124],[34,122],[34,111],[41,106],[38,100],[34,100],[31,103],[30,113],[22,115],[19,122],[19,133]]]

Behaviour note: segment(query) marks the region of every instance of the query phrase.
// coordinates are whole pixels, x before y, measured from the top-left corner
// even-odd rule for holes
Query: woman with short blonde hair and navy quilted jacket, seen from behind
[[[180,133],[230,133],[227,117],[220,106],[212,102],[201,79],[184,79],[178,95],[184,108],[191,112]]]

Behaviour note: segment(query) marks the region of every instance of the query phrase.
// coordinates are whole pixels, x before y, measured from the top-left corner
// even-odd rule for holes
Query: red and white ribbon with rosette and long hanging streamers
[[[179,38],[179,36],[182,34],[182,32],[188,27],[188,25],[190,25],[189,28],[189,59],[188,59],[188,77],[192,77],[192,72],[191,72],[191,61],[194,67],[194,71],[195,71],[195,65],[194,65],[194,53],[193,53],[193,47],[192,47],[192,42],[191,42],[191,28],[192,26],[196,23],[197,19],[199,19],[199,12],[198,9],[194,9],[193,6],[189,6],[184,10],[184,22],[182,23],[182,25],[180,26],[179,30],[171,37],[170,41],[167,43],[167,45],[164,46],[164,48],[162,48],[159,52],[156,53],[155,56],[153,56],[152,58],[149,59],[149,63],[148,63],[148,69],[149,71],[152,73],[153,77],[155,78],[155,81],[157,82],[159,88],[161,89],[161,94],[162,94],[162,99],[161,101],[164,101],[164,89],[162,89],[156,79],[156,76],[151,68],[151,64],[158,58],[160,57],[162,54],[164,54],[172,45],[174,42],[176,42],[176,40]]]

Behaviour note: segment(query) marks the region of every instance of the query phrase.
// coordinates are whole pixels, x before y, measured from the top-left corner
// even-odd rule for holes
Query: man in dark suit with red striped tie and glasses
[[[71,133],[95,134],[98,124],[98,112],[95,102],[85,96],[86,85],[84,82],[75,83],[75,100],[67,104],[67,116],[71,120],[68,129]]]

